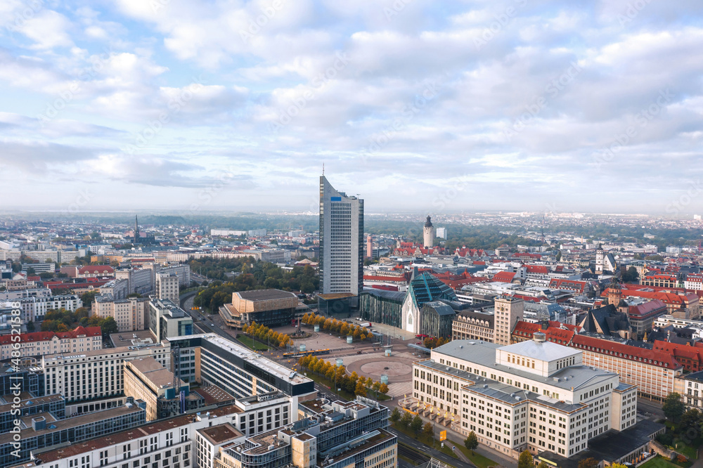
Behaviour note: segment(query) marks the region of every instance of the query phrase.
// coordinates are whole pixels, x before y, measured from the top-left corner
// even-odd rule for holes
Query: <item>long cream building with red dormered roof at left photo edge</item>
[[[100,327],[77,327],[70,332],[33,332],[0,336],[0,359],[46,356],[58,353],[83,353],[103,348],[103,334]],[[15,341],[13,341],[15,339]],[[19,349],[14,348],[19,344]],[[19,352],[19,356],[14,352]]]

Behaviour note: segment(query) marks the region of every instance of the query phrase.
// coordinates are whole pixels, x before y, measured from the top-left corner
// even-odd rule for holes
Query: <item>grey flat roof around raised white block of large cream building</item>
[[[561,346],[559,344],[553,344],[555,346]],[[460,348],[460,346],[463,346],[463,348]],[[450,356],[452,358],[465,360],[469,363],[475,363],[495,370],[501,370],[502,372],[508,372],[509,374],[517,377],[522,377],[522,379],[529,379],[534,382],[543,382],[567,391],[572,391],[572,389],[576,390],[579,386],[587,384],[598,377],[612,377],[613,375],[617,375],[614,372],[589,368],[586,365],[572,365],[568,368],[557,370],[556,372],[548,375],[548,377],[542,377],[541,375],[525,372],[524,370],[510,368],[507,365],[496,364],[496,349],[498,348],[501,348],[501,346],[495,343],[486,343],[469,339],[455,339],[453,342],[449,342],[448,344],[439,346],[439,348],[433,349],[432,356],[434,357],[434,353]],[[447,366],[440,365],[440,367],[444,368]]]

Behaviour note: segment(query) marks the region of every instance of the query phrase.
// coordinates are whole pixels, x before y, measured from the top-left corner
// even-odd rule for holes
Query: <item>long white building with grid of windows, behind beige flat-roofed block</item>
[[[61,394],[67,403],[121,396],[124,394],[124,362],[149,356],[165,368],[171,365],[168,342],[43,356],[43,394]]]

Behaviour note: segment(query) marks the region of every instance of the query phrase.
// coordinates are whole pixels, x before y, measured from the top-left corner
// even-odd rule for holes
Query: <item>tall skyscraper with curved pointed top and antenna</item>
[[[320,176],[320,278],[322,293],[363,289],[363,200],[337,192]]]

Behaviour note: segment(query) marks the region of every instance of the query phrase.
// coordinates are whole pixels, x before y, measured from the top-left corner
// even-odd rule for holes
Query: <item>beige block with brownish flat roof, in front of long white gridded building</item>
[[[182,381],[181,385],[188,386]],[[146,420],[157,420],[160,398],[176,398],[174,374],[152,357],[129,360],[124,363],[124,394],[145,401]]]

